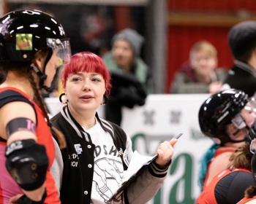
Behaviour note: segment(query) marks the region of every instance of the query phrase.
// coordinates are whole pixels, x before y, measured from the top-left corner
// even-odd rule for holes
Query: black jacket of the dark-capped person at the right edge
[[[255,94],[256,91],[256,77],[238,66],[233,66],[223,85],[230,85],[231,88],[242,90],[249,97]]]

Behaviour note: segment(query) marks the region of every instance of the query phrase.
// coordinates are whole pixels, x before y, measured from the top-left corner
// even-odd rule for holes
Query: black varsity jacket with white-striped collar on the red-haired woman
[[[105,119],[99,118],[96,114],[97,121],[102,126],[103,130],[108,131],[113,138],[116,149],[127,149],[127,135],[124,130],[118,125],[108,122]],[[86,134],[78,122],[69,113],[67,106],[61,109],[59,114],[56,114],[52,119],[53,127],[61,130],[64,133],[67,142],[67,148],[61,149],[61,156],[63,161],[62,178],[57,178],[56,181],[61,180],[60,198],[61,203],[76,203],[87,204],[91,201],[91,187],[94,174],[94,149],[95,145],[91,142],[90,136]],[[54,133],[53,133],[54,136]],[[75,149],[74,144],[80,144],[81,151],[78,160],[78,149]],[[127,170],[127,165],[122,159],[124,170]],[[72,168],[72,165],[77,165],[77,168]],[[54,168],[54,166],[52,167]],[[138,178],[138,184],[132,184],[129,189],[124,192],[124,203],[146,203],[154,195],[157,194],[158,189],[162,186],[163,181],[167,175],[167,168],[161,168],[157,163],[153,162],[149,165],[148,170]],[[54,171],[54,169],[53,169]],[[53,173],[56,175],[56,173]],[[128,201],[129,200],[129,201]]]

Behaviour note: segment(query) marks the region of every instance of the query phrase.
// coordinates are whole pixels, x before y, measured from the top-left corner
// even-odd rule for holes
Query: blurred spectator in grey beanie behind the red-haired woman
[[[102,58],[113,83],[105,106],[105,119],[117,125],[121,125],[121,107],[143,106],[146,95],[151,92],[150,71],[140,58],[143,42],[143,36],[137,31],[126,28],[113,36],[112,50]]]

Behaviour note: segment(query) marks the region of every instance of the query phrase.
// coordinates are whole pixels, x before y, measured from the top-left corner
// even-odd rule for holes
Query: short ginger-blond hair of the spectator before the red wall
[[[192,59],[196,52],[205,52],[209,57],[216,58],[217,50],[213,44],[207,41],[200,41],[195,43],[189,52],[189,58]]]

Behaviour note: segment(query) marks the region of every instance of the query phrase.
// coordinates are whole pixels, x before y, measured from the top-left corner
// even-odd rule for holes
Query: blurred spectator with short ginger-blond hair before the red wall
[[[207,41],[195,43],[189,52],[189,63],[178,69],[170,93],[217,93],[227,76],[227,69],[217,68],[217,50]]]

